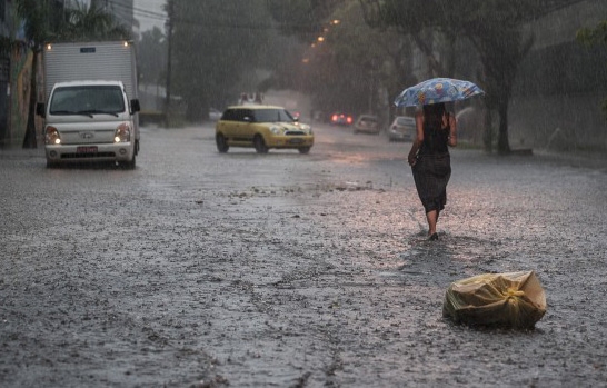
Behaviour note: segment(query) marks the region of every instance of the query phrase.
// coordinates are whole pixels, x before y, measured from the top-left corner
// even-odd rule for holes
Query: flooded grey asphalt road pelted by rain
[[[605,160],[456,149],[428,242],[408,143],[142,139],[135,171],[0,151],[0,386],[606,385]],[[536,330],[442,318],[450,282],[519,270]]]

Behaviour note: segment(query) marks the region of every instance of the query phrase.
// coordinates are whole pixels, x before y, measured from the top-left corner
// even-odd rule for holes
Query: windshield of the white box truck
[[[122,90],[118,86],[78,86],[54,89],[51,115],[115,115],[125,111]]]

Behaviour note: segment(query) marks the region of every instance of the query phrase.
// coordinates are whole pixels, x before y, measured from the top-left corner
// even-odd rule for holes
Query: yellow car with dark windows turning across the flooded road
[[[217,121],[215,140],[219,152],[228,152],[230,147],[253,147],[259,153],[270,148],[308,153],[314,133],[310,126],[300,123],[282,107],[233,106]]]

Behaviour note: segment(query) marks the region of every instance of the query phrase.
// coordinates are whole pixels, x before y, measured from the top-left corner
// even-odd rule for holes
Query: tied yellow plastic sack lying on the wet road
[[[447,290],[442,316],[455,322],[534,328],[546,314],[546,294],[534,271],[485,273]]]

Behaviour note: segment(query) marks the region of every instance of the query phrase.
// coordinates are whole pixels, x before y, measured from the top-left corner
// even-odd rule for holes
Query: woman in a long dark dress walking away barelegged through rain
[[[422,106],[416,113],[416,139],[408,161],[426,210],[430,241],[438,240],[436,225],[447,203],[447,183],[451,177],[448,146],[457,146],[455,116],[446,110],[444,102]]]

